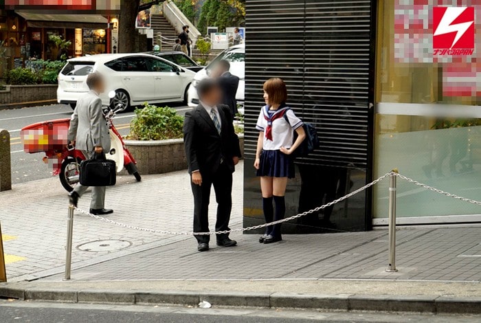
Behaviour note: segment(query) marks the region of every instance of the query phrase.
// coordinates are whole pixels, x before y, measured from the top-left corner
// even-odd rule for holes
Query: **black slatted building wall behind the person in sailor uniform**
[[[321,146],[296,162],[287,189],[287,216],[311,210],[370,180],[373,32],[370,0],[246,3],[245,225],[262,223],[258,178],[252,164],[263,103],[262,83],[288,85],[288,104],[315,124]],[[367,194],[367,195],[366,195]],[[368,230],[369,192],[284,225],[284,232]]]

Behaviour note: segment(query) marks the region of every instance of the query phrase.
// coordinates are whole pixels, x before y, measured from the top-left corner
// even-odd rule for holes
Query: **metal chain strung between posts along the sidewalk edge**
[[[299,219],[301,218],[302,216],[306,216],[307,214],[313,214],[314,212],[319,212],[320,210],[323,210],[325,208],[328,208],[332,205],[335,205],[339,202],[342,202],[344,201],[345,199],[348,199],[350,197],[353,197],[355,194],[358,194],[360,192],[362,192],[363,190],[366,190],[368,188],[370,188],[371,186],[374,186],[376,185],[377,183],[379,183],[380,181],[382,181],[383,179],[387,178],[387,177],[390,177],[390,175],[396,175],[397,177],[399,177],[400,179],[404,179],[405,181],[408,181],[410,183],[414,183],[414,185],[416,186],[421,186],[422,188],[425,188],[427,190],[432,190],[433,192],[436,192],[436,193],[439,193],[439,194],[443,194],[447,197],[452,197],[454,199],[458,199],[460,201],[465,201],[465,202],[469,202],[469,203],[473,203],[473,204],[476,204],[476,205],[481,205],[481,202],[480,201],[475,201],[473,199],[467,199],[465,197],[460,197],[456,194],[451,194],[451,193],[448,193],[448,192],[444,192],[443,190],[439,190],[438,188],[433,188],[432,186],[428,186],[424,183],[421,183],[419,181],[415,181],[414,179],[410,179],[409,177],[405,177],[403,175],[400,175],[398,174],[397,172],[388,172],[387,174],[379,177],[378,179],[375,179],[374,181],[366,184],[365,186],[361,187],[361,188],[358,188],[357,190],[354,190],[353,192],[350,192],[349,194],[345,195],[344,197],[340,197],[339,199],[336,199],[332,202],[329,202],[329,203],[326,203],[324,205],[321,205],[317,208],[314,208],[312,210],[309,210],[309,211],[306,211],[306,212],[302,212],[302,213],[299,213],[299,214],[295,214],[293,216],[290,216],[289,218],[285,218],[285,219],[282,219],[282,220],[278,220],[278,221],[273,221],[271,223],[265,223],[265,224],[261,224],[261,225],[254,225],[254,226],[251,226],[251,227],[241,227],[241,228],[238,228],[238,229],[232,229],[232,230],[225,230],[225,231],[211,231],[211,232],[192,232],[192,231],[188,231],[188,232],[175,232],[175,231],[169,231],[169,230],[155,230],[155,229],[149,229],[147,227],[139,227],[139,226],[136,226],[136,225],[129,225],[129,224],[125,224],[125,223],[121,223],[121,222],[118,222],[118,221],[113,221],[111,219],[107,219],[103,216],[99,216],[99,215],[95,215],[95,214],[91,214],[87,211],[84,211],[84,210],[81,210],[79,208],[75,208],[76,211],[82,213],[82,214],[85,214],[85,215],[88,215],[88,216],[91,216],[93,219],[97,219],[97,220],[100,220],[102,222],[106,222],[106,223],[110,223],[110,224],[113,224],[113,225],[118,225],[120,227],[124,227],[126,229],[131,229],[131,230],[137,230],[137,231],[142,231],[142,232],[150,232],[150,233],[156,233],[156,234],[167,234],[167,235],[170,235],[170,236],[208,236],[208,235],[214,235],[214,234],[229,234],[229,233],[233,233],[233,232],[245,232],[245,231],[251,231],[251,230],[257,230],[257,229],[262,229],[263,227],[268,227],[268,226],[271,226],[271,225],[276,225],[276,224],[280,224],[280,223],[284,223],[284,222],[288,222],[288,221],[292,221],[294,219]]]

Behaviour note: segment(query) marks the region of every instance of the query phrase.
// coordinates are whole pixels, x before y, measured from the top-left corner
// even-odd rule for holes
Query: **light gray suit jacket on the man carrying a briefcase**
[[[80,151],[92,152],[97,146],[102,146],[105,153],[110,151],[109,127],[102,113],[102,100],[95,92],[89,91],[78,100],[70,120],[69,140],[75,140]]]

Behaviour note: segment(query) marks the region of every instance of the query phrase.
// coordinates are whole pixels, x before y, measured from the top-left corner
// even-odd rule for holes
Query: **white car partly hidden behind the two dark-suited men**
[[[236,99],[237,103],[240,105],[244,105],[244,98],[245,98],[245,45],[235,45],[228,49],[225,49],[219,56],[212,60],[205,68],[201,69],[200,71],[195,74],[194,81],[192,85],[189,87],[189,99],[188,104],[189,107],[197,107],[199,104],[199,97],[197,96],[197,83],[204,78],[207,78],[210,74],[210,71],[214,68],[219,60],[227,60],[230,63],[230,72],[238,76],[240,78],[239,87],[237,89]],[[243,113],[243,109],[239,111],[241,114]]]

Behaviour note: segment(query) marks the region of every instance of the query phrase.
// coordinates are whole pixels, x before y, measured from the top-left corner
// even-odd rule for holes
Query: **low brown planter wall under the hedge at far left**
[[[0,109],[54,103],[57,100],[57,88],[56,84],[6,85],[0,91]]]

